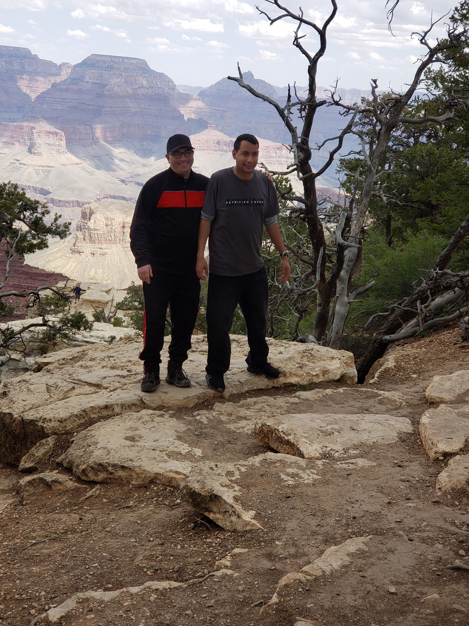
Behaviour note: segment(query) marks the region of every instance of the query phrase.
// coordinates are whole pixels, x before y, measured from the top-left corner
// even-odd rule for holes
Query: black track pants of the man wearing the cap
[[[199,294],[200,282],[195,272],[168,274],[153,269],[150,284],[143,283],[143,350],[138,357],[146,372],[159,371],[168,305],[171,314],[169,359],[178,363],[186,361],[199,311]]]

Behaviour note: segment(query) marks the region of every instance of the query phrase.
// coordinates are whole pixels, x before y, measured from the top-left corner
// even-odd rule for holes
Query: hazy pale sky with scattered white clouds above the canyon
[[[7,0],[0,2],[0,44],[31,49],[55,63],[78,63],[93,53],[144,58],[151,68],[174,82],[208,86],[223,76],[250,69],[256,78],[284,86],[306,85],[306,63],[291,46],[290,20],[269,26],[260,9],[278,9],[266,0]],[[328,0],[284,0],[285,6],[322,24]],[[328,49],[318,70],[318,85],[336,78],[344,88],[368,89],[371,78],[380,88],[399,90],[410,81],[413,63],[423,52],[413,31],[430,24],[455,6],[455,0],[401,0],[386,22],[385,0],[338,0],[338,13],[328,31]],[[7,5],[11,5],[8,8]],[[316,50],[311,29],[303,44]],[[432,31],[433,34],[433,31]],[[436,28],[434,37],[442,36]]]

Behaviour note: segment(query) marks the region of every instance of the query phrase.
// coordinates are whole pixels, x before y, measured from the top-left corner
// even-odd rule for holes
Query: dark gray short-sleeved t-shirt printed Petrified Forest
[[[275,187],[261,172],[242,180],[233,168],[215,172],[205,190],[202,219],[211,221],[209,269],[222,276],[253,274],[263,267],[264,225],[280,212]]]

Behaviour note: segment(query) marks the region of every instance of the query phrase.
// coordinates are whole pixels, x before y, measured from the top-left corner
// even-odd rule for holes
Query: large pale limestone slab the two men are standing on
[[[163,359],[169,338],[165,341]],[[184,369],[192,386],[178,389],[161,382],[154,393],[142,393],[143,376],[138,353],[141,341],[121,339],[113,344],[68,348],[38,359],[33,372],[0,384],[0,460],[18,464],[41,439],[74,433],[89,424],[144,409],[190,407],[219,397],[205,381],[207,343],[194,336],[193,349]],[[251,389],[333,381],[356,382],[353,355],[315,344],[268,340],[270,361],[280,367],[278,379],[256,376],[246,370],[248,342],[232,337],[231,369],[226,374],[228,398]],[[164,377],[164,372],[161,372]]]

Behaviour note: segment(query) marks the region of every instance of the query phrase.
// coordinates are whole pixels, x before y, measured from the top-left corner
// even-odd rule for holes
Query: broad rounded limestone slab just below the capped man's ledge
[[[180,488],[201,450],[179,439],[184,424],[162,411],[126,413],[79,433],[59,462],[83,480],[151,483]],[[190,461],[169,458],[188,454]]]

